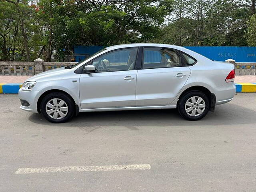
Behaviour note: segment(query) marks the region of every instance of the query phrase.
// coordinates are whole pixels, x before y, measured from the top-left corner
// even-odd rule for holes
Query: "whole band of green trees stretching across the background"
[[[255,46],[255,23],[255,0],[0,0],[0,60],[62,60],[78,45]]]

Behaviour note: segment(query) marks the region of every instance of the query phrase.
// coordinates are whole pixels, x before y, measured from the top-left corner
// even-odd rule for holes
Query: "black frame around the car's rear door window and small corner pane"
[[[185,53],[185,52],[183,52],[183,51],[181,51],[181,50],[178,50],[178,49],[175,49],[175,48],[170,48],[170,47],[156,47],[156,46],[143,46],[142,47],[142,61],[141,61],[141,66],[140,66],[140,70],[146,70],[146,69],[162,69],[162,68],[174,68],[174,66],[172,66],[172,67],[158,67],[158,68],[146,68],[146,69],[144,69],[143,68],[143,63],[144,63],[144,49],[145,48],[165,48],[165,49],[171,49],[171,50],[175,50],[175,51],[177,51],[178,52],[178,55],[180,56],[180,58],[181,58],[181,61],[182,61],[182,66],[175,66],[175,67],[188,67],[188,66],[193,66],[194,64],[196,64],[197,63],[197,60],[194,58],[194,57],[192,57],[192,56],[190,56],[189,54],[187,54],[187,53]],[[195,60],[195,62],[193,63],[193,64],[188,64],[187,62],[186,62],[186,59],[184,58],[184,56],[182,55],[182,54],[185,54],[185,55],[187,55],[187,56],[189,56],[190,58],[192,58],[193,60]]]

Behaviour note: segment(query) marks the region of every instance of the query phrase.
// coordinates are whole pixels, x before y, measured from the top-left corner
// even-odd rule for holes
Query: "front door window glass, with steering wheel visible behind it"
[[[127,48],[106,53],[92,61],[96,72],[133,70],[138,48]]]

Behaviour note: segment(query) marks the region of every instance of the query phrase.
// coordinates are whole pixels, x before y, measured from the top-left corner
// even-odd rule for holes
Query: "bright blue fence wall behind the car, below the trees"
[[[104,48],[103,46],[75,46],[74,54],[76,62],[83,60],[95,52]],[[190,47],[185,48],[206,56],[212,60],[225,61],[234,59],[236,62],[256,62],[256,47]],[[158,57],[158,55],[156,55]],[[158,60],[159,58],[155,58]]]

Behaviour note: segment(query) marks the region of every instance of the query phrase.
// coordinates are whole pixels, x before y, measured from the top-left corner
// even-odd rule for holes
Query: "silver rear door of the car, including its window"
[[[170,48],[144,47],[138,70],[136,106],[170,105],[190,76],[182,55]]]

